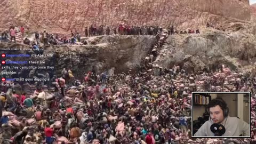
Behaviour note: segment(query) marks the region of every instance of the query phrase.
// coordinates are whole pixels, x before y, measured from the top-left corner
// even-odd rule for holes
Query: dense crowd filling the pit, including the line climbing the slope
[[[2,82],[9,86],[2,86],[0,93],[0,142],[170,144],[256,141],[254,112],[252,139],[191,138],[191,92],[250,91],[254,106],[255,72],[238,74],[225,65],[195,74],[189,74],[178,65],[159,67],[154,60],[168,35],[167,29],[156,34],[158,43],[148,57],[141,60],[137,69],[127,73],[109,76],[92,69],[78,79],[71,69],[63,69],[59,77],[53,75],[49,82]],[[29,76],[33,77],[34,73]]]

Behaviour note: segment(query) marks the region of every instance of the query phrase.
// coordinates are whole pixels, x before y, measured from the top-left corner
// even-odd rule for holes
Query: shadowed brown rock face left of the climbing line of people
[[[81,77],[83,73],[95,70],[107,71],[109,74],[128,71],[140,65],[142,58],[156,43],[154,36],[98,36],[86,39],[89,45],[52,45],[44,50],[44,54],[54,54],[54,57],[15,58],[15,60],[45,61],[45,66],[54,66],[57,74],[63,68],[70,68]],[[28,45],[0,43],[0,47],[28,49]],[[33,54],[33,51],[2,51],[8,54]],[[13,59],[14,60],[14,59]],[[30,64],[31,65],[31,64]],[[30,70],[24,70],[26,74]],[[54,72],[54,71],[53,71]],[[53,75],[54,73],[51,73]],[[26,76],[25,76],[26,77]]]

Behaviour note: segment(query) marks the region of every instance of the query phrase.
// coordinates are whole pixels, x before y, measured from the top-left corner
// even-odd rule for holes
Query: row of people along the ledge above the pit
[[[89,28],[85,27],[84,35],[85,37],[90,36],[100,36],[100,35],[157,35],[162,33],[163,27],[160,26],[127,26],[127,25],[119,25],[118,27],[109,26],[97,26],[91,25]],[[169,35],[174,34],[199,34],[199,29],[193,30],[188,29],[188,31],[178,31],[175,30],[173,26],[166,28]],[[9,31],[3,31],[0,36],[1,42],[16,42],[17,37],[19,39],[19,43],[24,43],[27,45],[39,47],[39,44],[51,44],[51,45],[61,45],[61,44],[87,44],[86,41],[81,41],[82,35],[79,34],[76,30],[73,32],[70,31],[69,36],[62,36],[60,37],[58,34],[50,34],[47,33],[46,29],[42,33],[35,32],[34,33],[34,41],[30,41],[28,36],[24,36],[25,34],[25,27],[10,27]]]

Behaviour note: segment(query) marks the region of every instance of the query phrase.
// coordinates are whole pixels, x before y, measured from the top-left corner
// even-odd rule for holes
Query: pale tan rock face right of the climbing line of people
[[[155,61],[160,66],[180,65],[197,72],[226,64],[241,73],[256,66],[255,34],[209,29],[204,34],[173,35],[166,39]]]

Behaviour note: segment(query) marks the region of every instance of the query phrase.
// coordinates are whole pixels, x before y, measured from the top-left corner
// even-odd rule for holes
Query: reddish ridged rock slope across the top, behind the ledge
[[[85,26],[174,25],[179,29],[197,28],[206,22],[225,26],[229,22],[250,21],[248,0],[95,0],[29,1],[1,0],[0,28],[10,25],[32,30],[47,29],[67,33]]]

